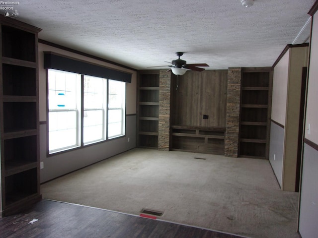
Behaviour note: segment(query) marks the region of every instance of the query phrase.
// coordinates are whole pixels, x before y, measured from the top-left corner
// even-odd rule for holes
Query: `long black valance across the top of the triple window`
[[[106,68],[85,61],[60,56],[52,52],[44,52],[44,68],[58,69],[83,75],[107,78],[131,83],[131,74]]]

